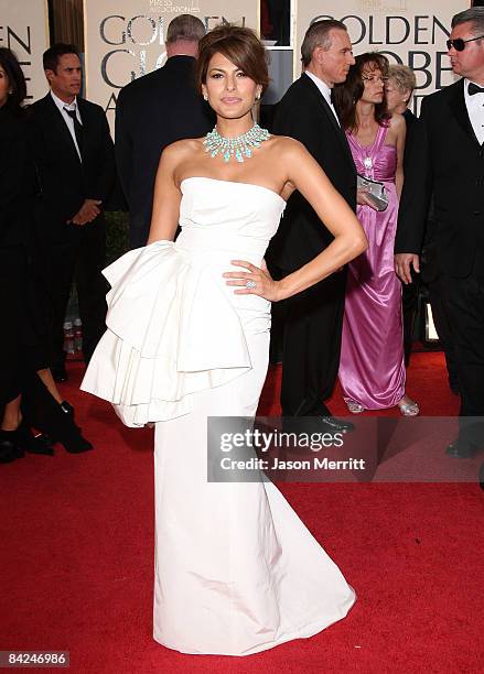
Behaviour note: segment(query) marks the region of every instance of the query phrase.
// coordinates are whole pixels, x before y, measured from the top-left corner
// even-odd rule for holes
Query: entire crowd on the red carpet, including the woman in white
[[[482,447],[483,9],[453,18],[448,50],[462,79],[429,96],[416,121],[411,70],[355,57],[343,23],[318,21],[269,132],[254,120],[269,83],[254,32],[205,34],[180,15],[166,65],[119,96],[115,149],[103,109],[79,96],[74,45],[45,52],[50,91],[29,108],[20,65],[0,48],[0,460],[53,454],[55,442],[92,448],[55,383],[67,377],[75,281],[83,390],[128,426],[155,426],[154,639],[169,648],[255,653],[321,631],[355,600],[271,482],[206,480],[207,417],[256,414],[271,302],[286,304],[289,424],[351,432],[324,403],[337,377],[351,413],[415,416],[405,349],[416,293],[402,305],[401,282],[433,247],[462,401],[447,452]],[[106,304],[115,154],[131,250],[104,270]]]

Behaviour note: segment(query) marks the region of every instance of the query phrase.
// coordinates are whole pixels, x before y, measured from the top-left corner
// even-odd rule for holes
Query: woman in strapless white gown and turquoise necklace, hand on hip
[[[251,31],[208,33],[198,81],[216,128],[163,152],[148,246],[105,271],[108,329],[82,388],[129,426],[155,424],[154,639],[247,655],[315,634],[355,596],[272,483],[207,482],[207,416],[256,414],[270,301],[326,278],[366,239],[303,146],[254,124],[268,74]],[[294,189],[334,241],[276,282],[263,254]]]

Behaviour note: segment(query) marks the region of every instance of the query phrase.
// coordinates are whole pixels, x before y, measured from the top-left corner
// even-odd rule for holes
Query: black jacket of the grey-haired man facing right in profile
[[[313,80],[303,74],[277,106],[273,132],[299,140],[316,160],[334,187],[356,208],[356,168],[343,129]],[[272,239],[271,267],[293,271],[326,248],[333,236],[304,197],[288,200],[279,231]]]

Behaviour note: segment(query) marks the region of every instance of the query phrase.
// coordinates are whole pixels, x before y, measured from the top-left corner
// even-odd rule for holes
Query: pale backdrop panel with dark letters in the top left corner
[[[47,0],[0,0],[0,46],[12,50],[22,66],[28,102],[45,96],[42,54],[49,46]]]

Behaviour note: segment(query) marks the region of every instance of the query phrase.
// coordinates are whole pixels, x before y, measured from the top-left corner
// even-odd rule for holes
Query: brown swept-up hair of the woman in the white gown
[[[202,37],[196,63],[196,85],[200,93],[202,85],[206,84],[208,64],[215,54],[223,54],[247,77],[261,85],[262,93],[267,89],[269,72],[266,50],[254,31],[238,25],[222,24]]]

